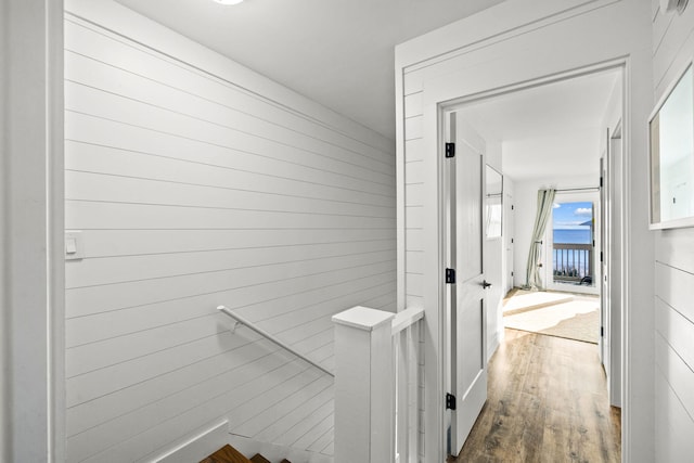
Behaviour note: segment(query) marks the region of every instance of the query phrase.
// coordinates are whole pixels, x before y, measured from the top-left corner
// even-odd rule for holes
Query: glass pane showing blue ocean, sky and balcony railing
[[[552,209],[552,274],[555,283],[593,285],[593,203],[555,203]]]

